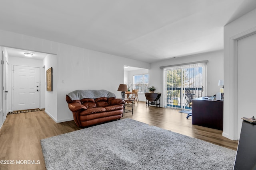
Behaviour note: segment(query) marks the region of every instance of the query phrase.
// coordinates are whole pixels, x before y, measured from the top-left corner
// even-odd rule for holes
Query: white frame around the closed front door
[[[19,65],[19,64],[12,64],[12,100],[11,100],[11,111],[13,111],[13,101],[14,101],[14,66],[25,66],[25,67],[34,67],[34,68],[39,68],[39,108],[41,108],[41,67],[38,66],[28,66],[28,65]]]

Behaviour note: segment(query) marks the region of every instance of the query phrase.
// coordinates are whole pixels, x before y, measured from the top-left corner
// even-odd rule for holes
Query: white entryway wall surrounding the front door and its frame
[[[40,68],[40,74],[41,74],[41,86],[40,86],[40,108],[45,108],[45,93],[44,93],[44,69],[42,68],[43,62],[41,60],[35,60],[35,59],[25,59],[25,58],[19,58],[19,57],[12,57],[9,56],[9,109],[12,111],[12,70],[14,65],[19,65],[19,66],[32,66],[32,67],[39,67]],[[43,88],[42,88],[43,87]],[[10,93],[9,93],[10,92]]]

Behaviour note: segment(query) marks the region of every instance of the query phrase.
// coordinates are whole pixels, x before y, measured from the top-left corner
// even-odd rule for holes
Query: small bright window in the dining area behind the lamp
[[[138,89],[139,93],[148,92],[148,74],[133,76],[133,89]]]

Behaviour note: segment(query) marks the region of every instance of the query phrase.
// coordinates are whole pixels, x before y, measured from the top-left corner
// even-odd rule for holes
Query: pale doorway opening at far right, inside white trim
[[[237,136],[240,137],[242,117],[255,117],[256,33],[238,40],[237,60]]]

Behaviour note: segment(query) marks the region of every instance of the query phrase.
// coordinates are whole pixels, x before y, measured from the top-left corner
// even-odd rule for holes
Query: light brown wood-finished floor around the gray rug
[[[216,145],[236,150],[238,141],[222,136],[222,131],[192,125],[191,117],[176,109],[146,106],[145,102],[134,105],[132,112],[124,113],[122,119],[130,118],[176,133],[202,139]],[[72,114],[72,113],[70,113]],[[0,130],[0,160],[15,164],[0,164],[1,170],[45,170],[40,140],[76,131],[74,121],[55,123],[44,111],[8,115]],[[16,164],[16,161],[37,160],[40,164]]]

